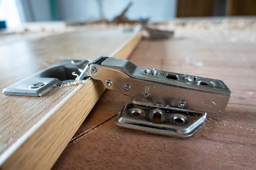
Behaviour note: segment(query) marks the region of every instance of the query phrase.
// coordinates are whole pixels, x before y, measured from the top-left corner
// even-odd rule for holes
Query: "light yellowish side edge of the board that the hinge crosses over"
[[[135,34],[112,57],[127,59],[141,38]],[[105,89],[93,79],[80,84],[0,155],[0,168],[50,169]]]

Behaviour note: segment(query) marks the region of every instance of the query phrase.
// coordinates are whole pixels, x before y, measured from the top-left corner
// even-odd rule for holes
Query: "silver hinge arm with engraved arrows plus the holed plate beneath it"
[[[116,124],[152,133],[188,137],[207,112],[221,113],[230,90],[221,80],[138,67],[128,60],[100,57],[80,75],[135,97],[118,113]]]

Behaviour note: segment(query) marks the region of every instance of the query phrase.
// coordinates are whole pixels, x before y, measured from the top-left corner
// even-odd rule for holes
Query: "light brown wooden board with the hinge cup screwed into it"
[[[64,59],[127,58],[141,34],[122,30],[73,32],[0,47],[1,89]],[[3,169],[49,169],[105,87],[92,79],[54,88],[42,97],[0,94]]]

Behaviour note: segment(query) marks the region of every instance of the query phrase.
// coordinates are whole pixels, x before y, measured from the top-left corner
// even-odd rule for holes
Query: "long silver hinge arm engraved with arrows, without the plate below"
[[[92,67],[97,72],[90,72]],[[157,103],[166,108],[220,113],[225,110],[230,98],[230,91],[221,80],[197,77],[200,83],[190,83],[187,81],[190,75],[160,70],[156,75],[148,75],[147,68],[138,67],[128,60],[101,57],[91,62],[88,70],[93,79],[103,83],[111,80],[112,85],[106,88],[133,96],[149,106]],[[128,91],[124,88],[127,84],[130,85]]]

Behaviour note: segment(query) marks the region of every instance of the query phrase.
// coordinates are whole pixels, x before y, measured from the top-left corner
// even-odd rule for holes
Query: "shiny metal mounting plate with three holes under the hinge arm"
[[[117,125],[151,133],[188,137],[205,122],[206,113],[126,104],[118,113]]]

